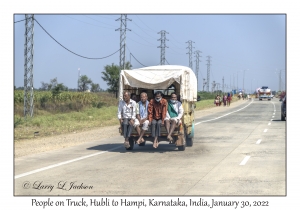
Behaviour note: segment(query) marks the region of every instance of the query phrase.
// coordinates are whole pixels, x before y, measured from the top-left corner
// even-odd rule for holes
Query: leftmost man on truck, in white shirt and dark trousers
[[[132,132],[134,120],[136,118],[136,102],[130,99],[130,92],[123,93],[123,100],[119,101],[118,119],[120,126],[123,128],[123,135],[125,138],[124,146],[129,148],[129,137]]]

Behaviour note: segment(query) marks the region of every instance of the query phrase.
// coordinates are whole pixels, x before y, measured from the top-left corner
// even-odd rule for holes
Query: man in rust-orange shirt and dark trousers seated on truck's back
[[[162,98],[162,92],[157,91],[154,99],[151,99],[148,105],[149,125],[151,125],[151,135],[154,137],[153,147],[158,147],[158,137],[160,136],[160,127],[164,125],[167,115],[168,102]]]

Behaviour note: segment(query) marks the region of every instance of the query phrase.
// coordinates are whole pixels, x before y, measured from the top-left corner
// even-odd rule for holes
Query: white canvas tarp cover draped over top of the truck
[[[122,70],[119,96],[122,99],[125,85],[133,88],[167,89],[174,82],[180,84],[181,99],[197,101],[197,79],[194,72],[189,67],[175,65]]]

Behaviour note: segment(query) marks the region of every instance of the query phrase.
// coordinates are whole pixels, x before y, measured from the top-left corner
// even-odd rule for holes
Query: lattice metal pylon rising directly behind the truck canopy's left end
[[[126,56],[126,31],[131,31],[127,28],[127,15],[121,15],[116,21],[120,20],[120,28],[116,31],[120,31],[120,70],[125,69],[125,56]]]

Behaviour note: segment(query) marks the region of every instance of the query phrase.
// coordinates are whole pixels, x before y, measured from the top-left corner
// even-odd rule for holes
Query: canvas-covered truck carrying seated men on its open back
[[[197,101],[197,79],[189,67],[180,65],[160,65],[149,66],[133,70],[121,70],[119,77],[119,100],[123,100],[123,92],[129,91],[137,96],[142,92],[148,95],[148,101],[154,98],[156,91],[163,93],[163,98],[169,100],[171,93],[178,95],[178,100],[182,103],[184,114],[181,118],[181,124],[176,126],[172,133],[174,144],[179,151],[184,151],[186,146],[193,146],[194,127],[195,127],[195,103]],[[138,99],[139,101],[139,99]],[[123,135],[122,128],[119,128],[120,135]],[[136,140],[139,138],[134,129],[129,138],[130,147],[134,148]],[[151,127],[143,136],[145,142],[138,144],[145,146],[147,141],[153,142],[151,136]],[[163,126],[159,142],[167,141],[167,131]]]

